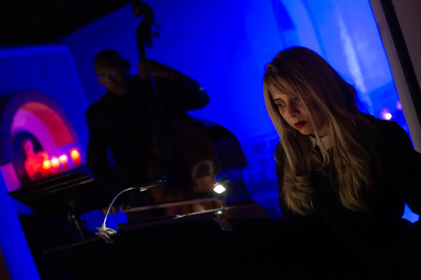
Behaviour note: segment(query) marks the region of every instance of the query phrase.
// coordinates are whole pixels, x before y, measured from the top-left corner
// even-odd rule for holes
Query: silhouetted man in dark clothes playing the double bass
[[[86,111],[87,162],[97,183],[115,192],[143,181],[146,176],[145,157],[152,133],[152,116],[156,115],[151,111],[155,110],[154,93],[147,77],[154,77],[164,112],[187,116],[186,111],[205,107],[209,97],[195,80],[156,61],[139,63],[139,75],[131,76],[129,62],[115,50],[101,51],[94,60],[94,67],[107,93]],[[109,149],[117,165],[118,183],[107,160]],[[146,193],[142,195],[149,195]]]

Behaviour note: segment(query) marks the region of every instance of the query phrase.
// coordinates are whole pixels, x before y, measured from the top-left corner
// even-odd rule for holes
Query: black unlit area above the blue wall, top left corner
[[[131,1],[1,1],[0,45],[54,42],[128,3]]]

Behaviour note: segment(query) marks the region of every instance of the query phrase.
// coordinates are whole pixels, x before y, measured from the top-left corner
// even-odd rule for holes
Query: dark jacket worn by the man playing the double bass
[[[185,115],[209,102],[208,94],[190,77],[178,81],[155,77],[159,102],[164,112]],[[152,89],[145,80],[133,76],[130,94],[107,92],[86,111],[89,130],[88,167],[98,184],[115,190],[144,180],[145,156],[155,115]],[[107,160],[111,150],[117,165],[118,180]]]

